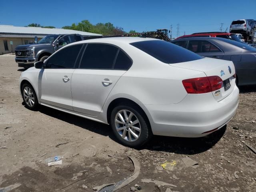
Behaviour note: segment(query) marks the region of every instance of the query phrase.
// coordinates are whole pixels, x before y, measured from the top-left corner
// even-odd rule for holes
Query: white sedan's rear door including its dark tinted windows
[[[110,44],[87,44],[72,76],[72,106],[75,111],[97,116],[119,78],[132,60]]]

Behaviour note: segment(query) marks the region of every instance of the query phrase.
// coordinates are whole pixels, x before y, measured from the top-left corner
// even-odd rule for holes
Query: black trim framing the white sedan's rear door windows
[[[81,59],[80,59],[80,62],[79,62],[79,64],[78,64],[78,69],[128,71],[128,70],[132,67],[132,64],[133,64],[132,58],[131,58],[122,48],[120,48],[120,47],[118,47],[118,46],[116,46],[116,45],[114,45],[114,44],[110,44],[110,43],[91,42],[91,43],[86,43],[86,44],[87,44],[87,45],[86,45],[86,47],[84,48],[84,52],[83,52],[83,54],[82,54],[82,56],[81,56]],[[116,51],[117,54],[116,54],[116,56],[115,56],[115,58],[114,58],[114,61],[113,61],[113,64],[112,64],[112,68],[111,68],[111,69],[110,69],[110,68],[106,68],[106,69],[80,68],[81,62],[82,62],[82,58],[83,58],[83,56],[84,56],[84,53],[85,53],[85,51],[86,51],[86,48],[87,48],[88,44],[105,44],[105,45],[110,45],[110,46],[114,46],[114,47],[118,48],[118,50]],[[120,52],[120,50],[121,50],[122,52],[124,52],[124,54],[131,60],[131,65],[130,65],[130,67],[129,67],[128,69],[115,69],[115,68],[114,68],[115,65],[116,65],[116,59],[117,59],[117,56],[118,56],[118,53]]]

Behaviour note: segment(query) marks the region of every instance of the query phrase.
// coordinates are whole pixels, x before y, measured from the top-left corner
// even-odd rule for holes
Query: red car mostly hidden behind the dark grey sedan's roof
[[[241,40],[236,36],[235,33],[226,33],[226,32],[202,32],[202,33],[193,33],[191,35],[183,35],[176,39],[188,38],[188,37],[220,37],[225,39],[231,39],[234,41],[241,42]],[[175,40],[176,40],[175,39]]]

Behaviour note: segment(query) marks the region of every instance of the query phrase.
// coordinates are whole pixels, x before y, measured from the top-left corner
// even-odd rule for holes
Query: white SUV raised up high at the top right
[[[232,21],[230,25],[230,33],[246,33],[247,35],[250,35],[251,32],[251,26],[246,19],[241,20],[234,20]]]

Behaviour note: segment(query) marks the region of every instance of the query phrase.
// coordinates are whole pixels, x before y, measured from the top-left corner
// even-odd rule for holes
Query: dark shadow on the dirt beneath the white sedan
[[[24,105],[24,102],[22,104]],[[112,132],[111,127],[107,124],[88,120],[86,118],[61,112],[46,106],[39,106],[38,111],[69,124],[74,124],[91,132],[95,132],[103,136],[109,136],[110,139],[118,142]],[[208,136],[200,138],[153,136],[148,144],[138,148],[138,150],[147,149],[152,151],[174,152],[176,154],[187,155],[198,154],[212,148],[212,146],[214,146],[220,140],[220,138],[222,138],[225,131],[226,126]]]

